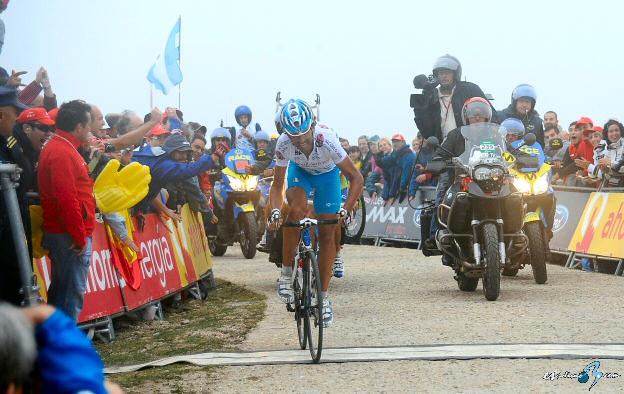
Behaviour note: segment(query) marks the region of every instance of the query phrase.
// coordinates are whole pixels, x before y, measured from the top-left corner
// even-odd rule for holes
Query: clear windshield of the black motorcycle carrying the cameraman
[[[504,160],[507,153],[505,135],[507,130],[494,123],[475,123],[461,128],[466,142],[466,150],[459,156],[459,161],[469,167],[479,164],[501,164],[509,166]]]

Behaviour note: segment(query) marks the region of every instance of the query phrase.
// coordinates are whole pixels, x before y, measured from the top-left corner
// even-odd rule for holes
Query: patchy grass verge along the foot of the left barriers
[[[223,280],[205,301],[187,299],[179,308],[163,303],[165,320],[115,320],[116,340],[96,343],[106,366],[138,364],[164,357],[236,350],[264,316],[263,295]],[[165,305],[167,304],[167,305]],[[187,364],[111,375],[127,393],[209,392],[217,367]]]

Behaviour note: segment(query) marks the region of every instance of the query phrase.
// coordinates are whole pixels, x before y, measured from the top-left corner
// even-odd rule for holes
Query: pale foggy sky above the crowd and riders
[[[449,53],[464,77],[507,107],[520,83],[563,127],[580,116],[624,119],[624,3],[615,1],[13,0],[0,65],[45,66],[59,103],[104,113],[149,112],[147,71],[182,16],[181,109],[208,130],[248,105],[273,132],[275,94],[312,101],[321,123],[353,144],[361,134],[416,135],[412,79]],[[178,89],[154,91],[161,109]]]

